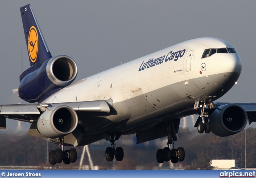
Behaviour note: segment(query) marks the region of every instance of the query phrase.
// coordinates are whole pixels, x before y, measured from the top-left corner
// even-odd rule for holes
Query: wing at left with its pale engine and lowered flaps
[[[0,129],[6,129],[6,118],[24,121],[32,123],[28,135],[43,139],[52,139],[59,135],[65,136],[65,143],[76,146],[82,137],[82,129],[79,128],[78,122],[83,125],[84,115],[93,113],[94,117],[107,116],[112,105],[111,99],[52,104],[0,105]],[[78,118],[82,120],[78,120]]]

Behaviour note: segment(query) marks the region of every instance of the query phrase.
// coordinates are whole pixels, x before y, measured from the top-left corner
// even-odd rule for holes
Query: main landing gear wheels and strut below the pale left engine
[[[49,162],[54,165],[56,163],[64,162],[64,164],[70,164],[76,162],[76,149],[72,148],[64,151],[64,138],[60,138],[60,149],[52,150],[49,153]]]

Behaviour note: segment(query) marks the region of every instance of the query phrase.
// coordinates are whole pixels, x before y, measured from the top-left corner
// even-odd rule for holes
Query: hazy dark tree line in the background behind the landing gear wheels
[[[218,137],[212,133],[199,134],[196,129],[180,128],[175,141],[175,148],[184,147],[185,160],[173,168],[180,169],[212,169],[212,159],[235,159],[238,166],[245,167],[245,132],[246,132],[246,167],[256,168],[256,128],[244,129],[238,134],[228,137]],[[48,152],[59,148],[58,145],[47,143],[43,139],[18,133],[9,133],[0,130],[0,166],[50,166]],[[167,138],[136,145],[135,135],[122,136],[116,141],[117,147],[123,147],[124,159],[122,162],[108,162],[105,159],[105,149],[110,146],[107,141],[99,141],[88,145],[94,166],[100,169],[161,169],[172,168],[169,162],[158,164],[156,151],[166,147]],[[67,147],[66,149],[70,149]],[[78,160],[76,163],[65,165],[56,164],[66,169],[77,168],[82,155],[81,147],[76,147]],[[89,165],[88,156],[84,156],[83,165]]]

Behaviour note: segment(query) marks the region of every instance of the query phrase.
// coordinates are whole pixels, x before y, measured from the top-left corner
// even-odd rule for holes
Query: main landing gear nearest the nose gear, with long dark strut
[[[174,128],[173,121],[167,123],[167,131],[168,131],[168,147],[164,147],[164,149],[159,149],[156,152],[156,160],[158,163],[164,163],[171,160],[172,163],[181,162],[185,158],[184,148],[178,147],[174,149],[174,141],[177,140],[176,131]]]

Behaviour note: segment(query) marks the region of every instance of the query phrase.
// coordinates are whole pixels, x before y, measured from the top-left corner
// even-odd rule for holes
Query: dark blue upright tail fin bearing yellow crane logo
[[[30,66],[39,63],[38,67],[52,57],[30,4],[20,8],[22,24],[28,49]],[[36,67],[36,68],[38,68]]]

